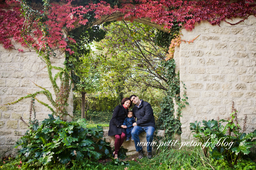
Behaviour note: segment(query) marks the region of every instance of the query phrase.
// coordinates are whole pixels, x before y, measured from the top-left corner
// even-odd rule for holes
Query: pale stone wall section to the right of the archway
[[[227,20],[236,23],[240,19]],[[240,125],[247,115],[247,132],[256,129],[256,17],[234,26],[222,21],[182,29],[181,39],[194,40],[175,48],[176,72],[186,85],[189,105],[182,109],[182,140],[193,137],[189,123],[228,118],[231,102],[238,110]],[[182,85],[181,85],[182,86]],[[181,89],[183,96],[183,89]]]

